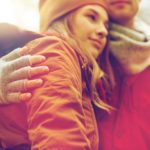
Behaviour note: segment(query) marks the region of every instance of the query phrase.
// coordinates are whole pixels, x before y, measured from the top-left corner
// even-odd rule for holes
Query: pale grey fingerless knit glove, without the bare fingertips
[[[0,58],[0,104],[18,102],[20,92],[26,91],[25,79],[29,78],[31,64],[29,55],[20,57],[19,51],[20,48]]]

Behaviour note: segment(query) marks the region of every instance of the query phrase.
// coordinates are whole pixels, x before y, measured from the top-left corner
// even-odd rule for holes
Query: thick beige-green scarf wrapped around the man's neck
[[[139,73],[150,65],[150,27],[149,31],[139,29],[144,27],[141,23],[136,22],[135,30],[111,24],[110,50],[127,74]]]

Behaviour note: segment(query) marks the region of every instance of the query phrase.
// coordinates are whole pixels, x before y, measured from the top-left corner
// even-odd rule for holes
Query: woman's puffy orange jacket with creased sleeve
[[[97,150],[98,132],[75,50],[56,36],[27,45],[42,54],[50,72],[30,101],[0,106],[0,139],[7,147],[31,143],[32,150]],[[28,139],[29,138],[29,139]]]

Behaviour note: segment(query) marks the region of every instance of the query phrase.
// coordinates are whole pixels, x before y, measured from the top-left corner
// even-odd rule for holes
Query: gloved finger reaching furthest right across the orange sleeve
[[[39,66],[39,67],[28,66],[12,72],[9,76],[9,81],[29,79],[37,75],[46,74],[48,72],[49,68],[47,66]]]

